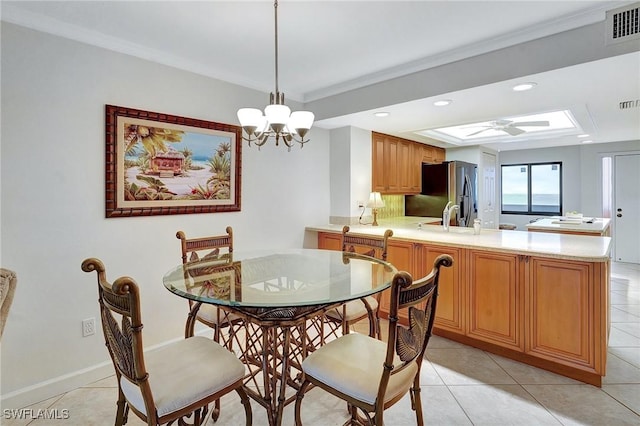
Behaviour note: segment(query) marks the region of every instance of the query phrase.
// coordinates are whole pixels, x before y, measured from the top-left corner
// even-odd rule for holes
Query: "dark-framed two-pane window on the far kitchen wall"
[[[502,213],[559,215],[562,163],[502,166]]]

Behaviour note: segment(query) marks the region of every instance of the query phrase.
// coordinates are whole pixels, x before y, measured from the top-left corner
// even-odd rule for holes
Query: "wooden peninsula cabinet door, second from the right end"
[[[524,350],[522,256],[471,251],[469,256],[470,337]]]

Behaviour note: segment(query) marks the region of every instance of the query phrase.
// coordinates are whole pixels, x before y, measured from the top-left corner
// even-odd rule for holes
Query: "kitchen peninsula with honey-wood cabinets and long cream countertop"
[[[406,218],[379,222],[351,230],[392,229],[388,260],[414,278],[426,275],[439,254],[454,258],[441,271],[435,334],[601,385],[611,238],[489,229],[474,235],[471,228],[419,228],[419,220]],[[340,250],[341,231],[342,225],[308,226],[306,240]],[[387,294],[380,313],[388,315]]]

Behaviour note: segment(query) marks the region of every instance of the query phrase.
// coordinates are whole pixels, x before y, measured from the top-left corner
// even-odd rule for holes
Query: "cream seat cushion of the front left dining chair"
[[[158,416],[180,410],[244,377],[244,364],[211,339],[195,336],[146,352],[145,365]],[[124,376],[130,405],[146,415],[140,388]]]

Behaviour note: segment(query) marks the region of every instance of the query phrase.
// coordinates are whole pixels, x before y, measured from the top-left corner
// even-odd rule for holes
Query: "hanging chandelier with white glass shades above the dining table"
[[[276,146],[280,140],[291,150],[294,142],[302,147],[309,139],[304,139],[311,129],[314,115],[310,111],[291,112],[284,104],[284,93],[278,90],[278,0],[273,3],[275,12],[275,64],[276,64],[276,91],[269,95],[269,105],[262,111],[257,108],[240,108],[238,120],[242,126],[242,139],[261,147],[270,137],[276,140]]]

